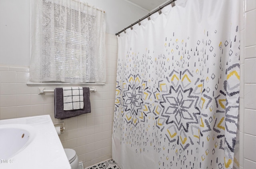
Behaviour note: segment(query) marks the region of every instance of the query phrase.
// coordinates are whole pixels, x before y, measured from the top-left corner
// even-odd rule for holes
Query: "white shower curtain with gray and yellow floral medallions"
[[[177,0],[118,37],[112,158],[122,169],[232,169],[239,0]]]

